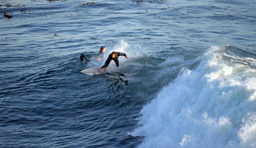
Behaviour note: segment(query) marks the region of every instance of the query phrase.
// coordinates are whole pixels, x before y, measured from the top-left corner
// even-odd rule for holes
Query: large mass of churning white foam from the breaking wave
[[[211,47],[143,107],[142,126],[129,133],[145,136],[139,147],[256,146],[255,69],[226,62],[222,48]]]

